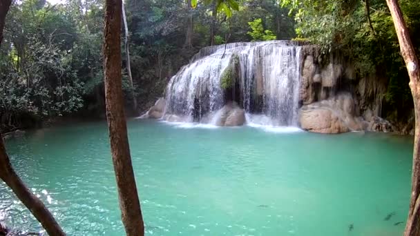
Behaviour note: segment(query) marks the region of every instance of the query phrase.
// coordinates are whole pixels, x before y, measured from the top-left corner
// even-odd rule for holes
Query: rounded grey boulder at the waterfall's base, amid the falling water
[[[245,110],[235,102],[226,104],[217,114],[216,126],[242,126],[245,124]]]

